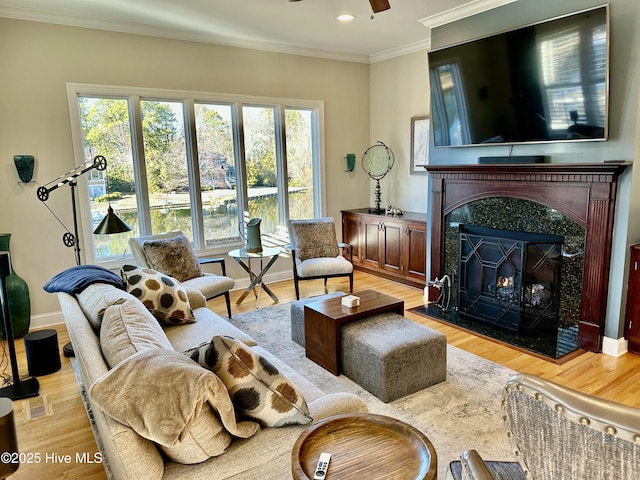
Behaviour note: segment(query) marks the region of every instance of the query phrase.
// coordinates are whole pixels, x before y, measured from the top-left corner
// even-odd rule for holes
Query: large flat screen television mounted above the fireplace
[[[436,147],[606,140],[609,7],[430,51]]]

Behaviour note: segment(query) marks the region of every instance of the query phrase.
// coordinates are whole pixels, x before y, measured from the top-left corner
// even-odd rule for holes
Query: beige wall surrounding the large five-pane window
[[[344,173],[346,153],[361,155],[369,144],[368,65],[4,18],[0,59],[0,231],[12,234],[35,324],[59,310],[42,285],[75,264],[65,230],[36,197],[37,184],[75,167],[67,82],[323,101],[330,192],[323,213],[339,218],[340,209],[368,202],[368,179]],[[18,183],[16,154],[35,155],[37,184]],[[72,229],[69,191],[52,192],[47,205]],[[286,260],[274,271],[290,272]],[[239,268],[232,272],[244,278]]]

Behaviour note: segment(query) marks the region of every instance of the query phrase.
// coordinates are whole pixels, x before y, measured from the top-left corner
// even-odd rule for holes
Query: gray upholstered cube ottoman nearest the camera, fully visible
[[[446,379],[447,337],[393,312],[347,323],[342,373],[391,402]]]

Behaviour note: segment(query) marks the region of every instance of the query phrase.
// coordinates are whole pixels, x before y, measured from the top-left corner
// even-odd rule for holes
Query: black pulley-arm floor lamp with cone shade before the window
[[[76,182],[76,178],[80,175],[84,175],[85,173],[91,170],[105,171],[107,169],[107,159],[102,155],[96,155],[92,161],[86,162],[79,167],[74,168],[73,170],[59,176],[58,178],[50,181],[46,185],[39,187],[37,190],[38,199],[42,202],[46,202],[49,199],[49,194],[60,188],[64,185],[69,185],[71,187],[71,210],[73,212],[73,233],[71,233],[67,227],[62,224],[60,219],[53,213],[53,216],[58,219],[58,221],[62,224],[64,229],[66,230],[65,234],[62,236],[62,242],[67,247],[73,247],[76,256],[76,265],[81,264],[80,260],[80,237],[78,235],[78,212],[76,208],[76,192],[75,188],[78,185]],[[113,233],[123,233],[129,232],[132,228],[126,224],[120,217],[118,217],[113,208],[111,208],[111,198],[109,196],[109,177],[106,175],[106,190],[107,190],[107,201],[109,202],[109,209],[107,210],[107,215],[102,219],[100,225],[93,231],[96,235],[111,235]],[[48,208],[48,207],[47,207]],[[51,209],[49,209],[51,211]],[[63,352],[65,356],[72,357],[73,356],[73,347],[71,342],[67,343],[63,347]]]

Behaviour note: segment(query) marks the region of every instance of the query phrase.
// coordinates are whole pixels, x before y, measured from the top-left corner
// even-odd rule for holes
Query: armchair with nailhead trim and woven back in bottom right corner
[[[507,382],[502,408],[518,462],[485,462],[469,450],[449,464],[448,479],[640,478],[640,409],[528,374]]]

